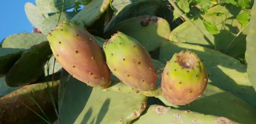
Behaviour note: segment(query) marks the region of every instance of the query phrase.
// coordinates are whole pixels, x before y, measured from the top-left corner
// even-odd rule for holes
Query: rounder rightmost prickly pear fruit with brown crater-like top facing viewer
[[[168,101],[185,105],[201,96],[207,82],[207,70],[197,54],[181,51],[167,62],[162,73],[161,89]]]

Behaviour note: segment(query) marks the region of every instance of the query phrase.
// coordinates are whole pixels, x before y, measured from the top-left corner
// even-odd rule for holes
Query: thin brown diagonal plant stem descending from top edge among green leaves
[[[172,4],[172,6],[176,9],[176,11],[178,12],[178,14],[180,14],[181,17],[183,17],[186,21],[188,21],[191,25],[193,25],[199,32],[201,32],[205,36],[205,34],[185,14],[183,14],[183,12],[176,6],[173,0],[168,0],[168,1],[169,3]],[[209,45],[214,46],[207,37],[206,37],[206,41],[209,43]]]

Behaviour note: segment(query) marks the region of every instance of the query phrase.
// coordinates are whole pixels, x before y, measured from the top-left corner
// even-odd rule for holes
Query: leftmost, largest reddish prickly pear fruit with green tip
[[[110,85],[110,70],[103,51],[88,31],[63,21],[47,39],[57,61],[73,77],[101,89]]]

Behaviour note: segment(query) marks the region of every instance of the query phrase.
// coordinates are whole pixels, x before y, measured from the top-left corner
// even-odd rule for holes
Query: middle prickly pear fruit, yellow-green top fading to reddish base
[[[154,90],[157,74],[152,59],[136,39],[117,32],[103,45],[108,67],[137,90]]]

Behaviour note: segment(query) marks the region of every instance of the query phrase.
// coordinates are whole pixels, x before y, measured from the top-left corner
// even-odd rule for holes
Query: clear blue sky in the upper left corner
[[[35,0],[2,0],[0,17],[0,42],[7,36],[22,32],[32,32],[34,28],[26,17],[24,6],[26,2]]]

